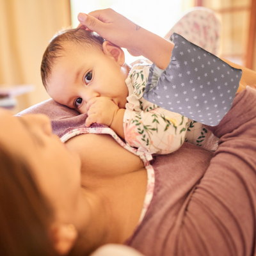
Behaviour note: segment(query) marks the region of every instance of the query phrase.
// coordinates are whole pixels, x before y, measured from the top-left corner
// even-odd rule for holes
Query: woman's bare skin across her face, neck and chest
[[[13,117],[0,108],[0,120],[1,145],[31,166],[38,187],[54,207],[49,234],[61,255],[77,239],[77,250],[92,252],[103,244],[124,243],[131,236],[147,188],[140,157],[108,135],[83,134],[65,145],[52,134],[45,115]],[[83,234],[83,239],[77,234]]]

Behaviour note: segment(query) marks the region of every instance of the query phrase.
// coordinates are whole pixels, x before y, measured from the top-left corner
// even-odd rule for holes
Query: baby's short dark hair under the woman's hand
[[[84,49],[102,49],[104,39],[95,32],[87,31],[84,27],[77,29],[61,29],[53,36],[50,44],[47,46],[41,64],[41,77],[45,89],[51,76],[52,67],[56,58],[63,56],[64,44],[70,42],[79,45]]]

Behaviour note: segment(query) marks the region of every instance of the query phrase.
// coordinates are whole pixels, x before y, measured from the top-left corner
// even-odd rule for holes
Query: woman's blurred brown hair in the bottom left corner
[[[0,144],[1,255],[57,255],[49,236],[54,214],[31,168]]]

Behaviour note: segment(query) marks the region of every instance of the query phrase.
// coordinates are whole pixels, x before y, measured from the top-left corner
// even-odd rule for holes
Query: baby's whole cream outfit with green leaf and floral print
[[[204,124],[143,99],[148,74],[151,72],[150,79],[157,84],[164,70],[157,66],[150,70],[152,62],[148,60],[136,62],[125,80],[129,90],[124,115],[125,141],[150,154],[169,154],[184,141],[215,151],[219,139]]]

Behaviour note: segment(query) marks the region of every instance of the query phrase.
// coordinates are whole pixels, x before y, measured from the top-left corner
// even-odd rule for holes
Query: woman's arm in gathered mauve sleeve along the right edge
[[[189,198],[175,255],[255,255],[256,90],[239,93],[220,124],[207,128],[219,147]]]

